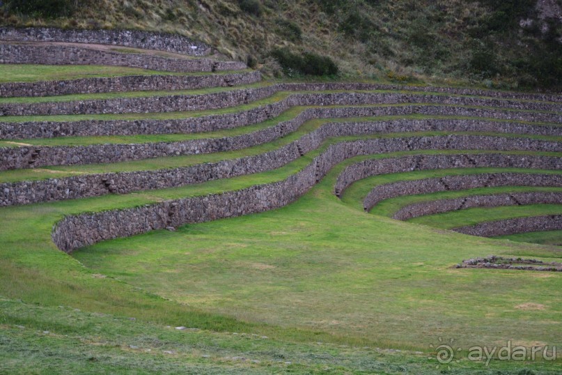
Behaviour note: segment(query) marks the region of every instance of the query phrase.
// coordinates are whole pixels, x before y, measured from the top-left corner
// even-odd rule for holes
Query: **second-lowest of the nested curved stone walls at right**
[[[396,220],[435,215],[474,207],[525,206],[528,204],[562,204],[562,192],[514,192],[513,194],[470,195],[454,199],[437,199],[400,208]]]

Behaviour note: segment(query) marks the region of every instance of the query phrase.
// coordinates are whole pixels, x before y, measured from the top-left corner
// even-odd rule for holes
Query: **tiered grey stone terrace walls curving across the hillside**
[[[471,207],[562,204],[556,190],[562,188],[561,95],[269,84],[202,43],[145,31],[0,29],[0,63],[166,72],[0,84],[0,206],[249,177],[245,188],[66,216],[52,231],[65,252],[279,208],[354,158],[361,161],[343,169],[334,186],[338,197],[373,176],[467,170],[377,185],[364,197],[366,211],[412,194],[505,190],[405,206],[393,216],[399,220]],[[283,168],[288,172],[276,181],[251,182],[253,175]],[[475,173],[478,168],[486,172]],[[513,186],[543,190],[511,194]],[[554,230],[562,227],[560,217],[483,218],[455,230],[481,236],[499,235],[499,228],[508,228],[502,234],[541,225]]]

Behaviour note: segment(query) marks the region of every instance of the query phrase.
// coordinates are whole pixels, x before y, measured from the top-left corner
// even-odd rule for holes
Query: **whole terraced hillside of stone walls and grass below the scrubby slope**
[[[562,95],[0,36],[0,372],[561,371]]]

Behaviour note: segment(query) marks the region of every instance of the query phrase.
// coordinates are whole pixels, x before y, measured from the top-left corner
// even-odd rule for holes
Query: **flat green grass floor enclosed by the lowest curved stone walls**
[[[550,323],[529,325],[529,330],[517,323],[534,314],[517,305],[549,305],[552,312],[560,308],[548,297],[533,296],[543,277],[451,269],[462,259],[513,254],[513,248],[494,249],[492,240],[438,234],[358,212],[331,194],[339,168],[279,211],[108,241],[74,257],[96,272],[187,305],[247,321],[388,340],[398,348],[423,350],[430,344],[425,333],[430,329],[461,345],[490,344],[486,340],[499,332],[532,342],[538,332],[550,329]],[[404,231],[407,237],[400,236]],[[525,251],[532,253],[532,248]],[[536,254],[556,257],[554,250]],[[504,298],[478,297],[483,284],[501,288]],[[477,316],[478,326],[464,332]],[[555,316],[552,323],[559,319]]]

